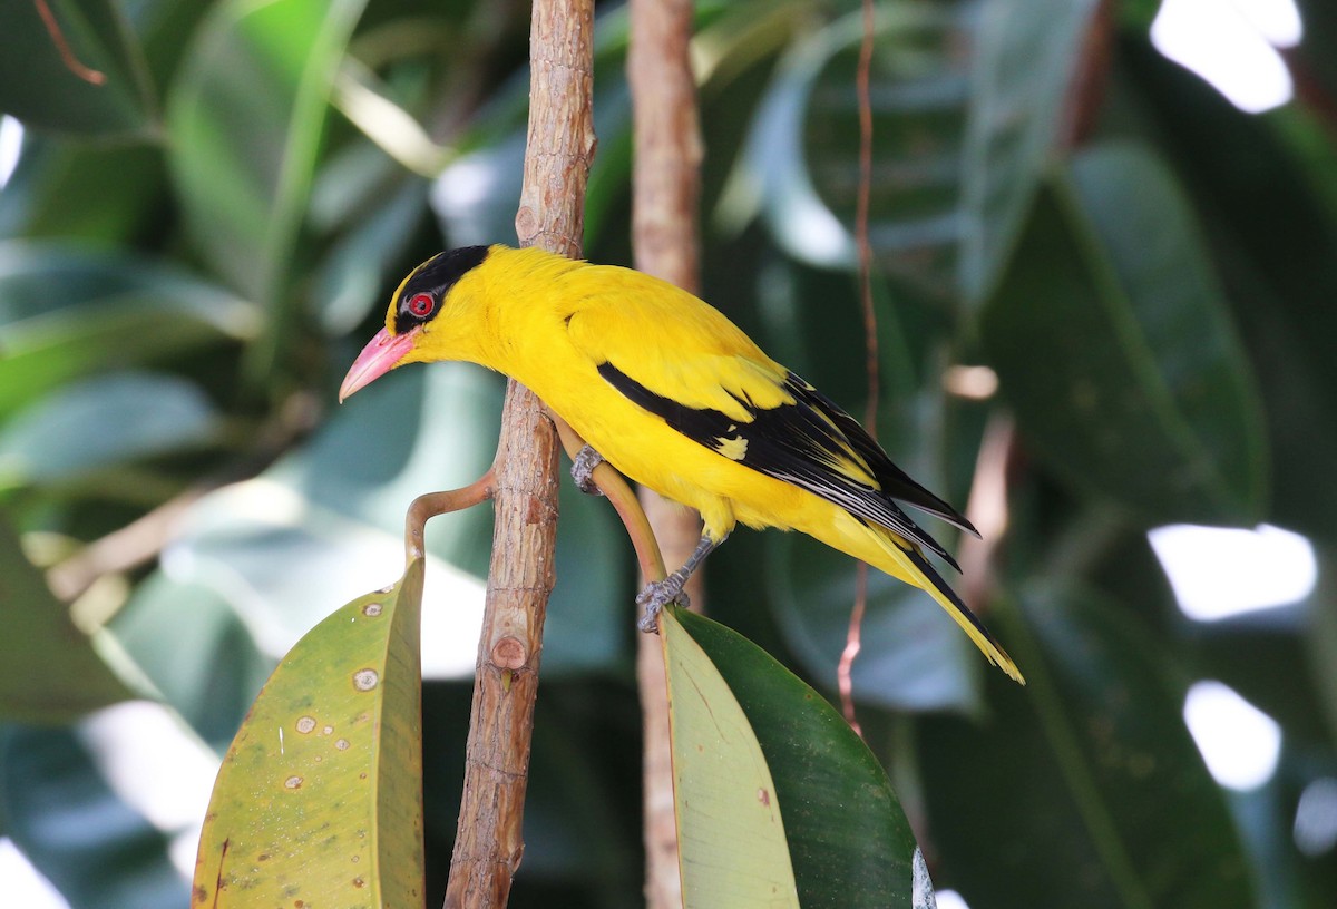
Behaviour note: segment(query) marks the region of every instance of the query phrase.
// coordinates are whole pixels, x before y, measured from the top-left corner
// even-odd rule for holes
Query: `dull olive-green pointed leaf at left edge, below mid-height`
[[[0,714],[64,723],[134,696],[70,620],[0,513]]]

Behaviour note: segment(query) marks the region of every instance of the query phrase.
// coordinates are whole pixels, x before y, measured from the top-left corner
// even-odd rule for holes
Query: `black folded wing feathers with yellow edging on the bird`
[[[957,571],[956,560],[896,503],[902,501],[979,536],[955,508],[892,464],[858,421],[794,373],[787,373],[783,382],[793,404],[758,408],[734,396],[751,414],[750,422],[656,394],[610,362],[600,364],[599,374],[693,441],[880,524],[937,553]],[[861,481],[860,476],[872,483]]]

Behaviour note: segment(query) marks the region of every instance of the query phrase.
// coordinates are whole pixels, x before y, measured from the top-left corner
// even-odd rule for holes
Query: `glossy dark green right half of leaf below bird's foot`
[[[674,616],[737,698],[761,745],[805,909],[932,905],[909,822],[862,739],[755,644],[695,614],[675,610]],[[678,640],[666,646],[671,659]],[[682,708],[677,699],[674,708]],[[675,731],[675,754],[685,747]]]

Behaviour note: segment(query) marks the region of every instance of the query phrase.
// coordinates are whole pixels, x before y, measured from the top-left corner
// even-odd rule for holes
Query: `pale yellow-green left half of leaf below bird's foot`
[[[797,909],[779,798],[751,725],[673,610],[662,634],[683,902]]]

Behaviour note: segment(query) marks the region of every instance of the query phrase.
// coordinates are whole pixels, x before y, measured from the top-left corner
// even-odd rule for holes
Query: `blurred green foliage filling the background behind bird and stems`
[[[156,909],[187,898],[168,837],[59,723],[123,696],[110,659],[226,747],[278,655],[393,580],[408,501],[485,469],[496,377],[334,393],[404,271],[513,241],[527,7],[48,5],[103,82],[37,4],[0,7],[0,111],[24,127],[0,190],[0,615],[19,630],[0,636],[0,833],[78,909]],[[857,13],[699,5],[703,295],[860,413]],[[856,696],[935,882],[973,909],[1337,905],[1332,842],[1293,833],[1337,775],[1337,31],[1300,7],[1305,100],[1250,116],[1155,52],[1150,3],[878,4],[880,437],[961,505],[985,428],[1015,420],[985,611],[1029,686],[874,576]],[[604,4],[598,27],[586,251],[604,262],[630,259],[626,15]],[[949,393],[953,365],[992,368],[996,393]],[[1146,537],[1178,521],[1298,531],[1318,587],[1193,623]],[[429,604],[433,576],[443,612],[475,596],[489,528],[433,521]],[[70,615],[33,564],[83,579],[56,583]],[[516,906],[640,900],[632,573],[606,504],[564,484]],[[832,691],[848,560],[738,533],[707,577],[715,618]],[[429,664],[459,650],[443,634]],[[1281,723],[1265,786],[1207,774],[1182,719],[1203,678]],[[424,695],[429,893],[468,698],[463,678]]]

